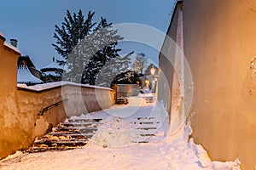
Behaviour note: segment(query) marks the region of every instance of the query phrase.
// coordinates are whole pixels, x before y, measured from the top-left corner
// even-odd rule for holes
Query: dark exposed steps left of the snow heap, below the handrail
[[[98,122],[102,119],[73,120],[61,122],[52,131],[34,141],[27,152],[47,150],[70,150],[84,146],[96,133]]]

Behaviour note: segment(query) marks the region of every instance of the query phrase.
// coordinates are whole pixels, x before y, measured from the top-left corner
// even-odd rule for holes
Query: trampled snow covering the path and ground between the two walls
[[[105,119],[102,128],[99,128],[102,131],[98,131],[84,147],[33,154],[19,151],[0,161],[0,169],[240,169],[238,160],[211,161],[207,151],[201,145],[195,144],[193,139],[189,139],[192,133],[189,124],[184,125],[175,135],[164,133],[168,117],[160,104],[146,103],[142,97],[131,98],[129,101],[129,105],[115,105],[106,111],[71,117]],[[127,132],[134,128],[129,122],[138,116],[154,116],[161,122],[156,132],[160,135],[159,139],[148,143],[130,141],[128,137],[132,135]],[[114,133],[114,136],[111,136],[109,133],[107,135],[104,129],[126,133]],[[166,138],[163,138],[164,134]],[[105,145],[102,143],[103,139]]]

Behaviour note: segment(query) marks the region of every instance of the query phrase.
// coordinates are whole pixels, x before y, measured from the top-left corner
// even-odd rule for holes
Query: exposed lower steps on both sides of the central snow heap
[[[147,143],[156,137],[156,131],[160,127],[160,122],[155,117],[131,117],[124,118],[137,130],[139,137],[135,143]],[[84,146],[89,139],[96,134],[102,119],[79,119],[70,118],[66,122],[61,122],[52,131],[46,133],[34,141],[28,152],[39,152],[47,150],[70,150]]]

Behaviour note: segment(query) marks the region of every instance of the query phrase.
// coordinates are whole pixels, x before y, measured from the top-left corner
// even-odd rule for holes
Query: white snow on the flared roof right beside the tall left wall
[[[43,83],[42,80],[32,75],[32,73],[29,71],[26,65],[22,65],[18,67],[17,82],[18,83]]]

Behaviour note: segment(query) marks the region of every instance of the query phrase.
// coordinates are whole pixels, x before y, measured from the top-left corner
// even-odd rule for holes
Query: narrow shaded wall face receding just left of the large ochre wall
[[[175,56],[179,50],[177,47],[177,18],[178,9],[182,8],[182,3],[177,3],[177,6],[173,12],[171,24],[166,32],[166,39],[160,51],[159,56],[159,81],[158,81],[158,100],[162,101],[169,113],[169,122],[171,122],[171,117],[174,105],[179,100],[180,91],[179,86],[172,86],[173,84],[179,84],[177,78],[177,72],[174,69]]]

